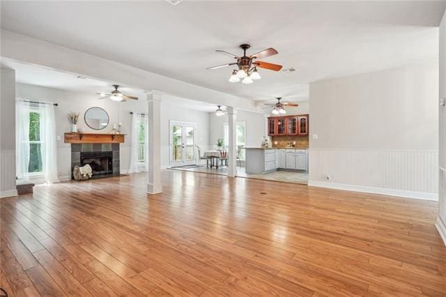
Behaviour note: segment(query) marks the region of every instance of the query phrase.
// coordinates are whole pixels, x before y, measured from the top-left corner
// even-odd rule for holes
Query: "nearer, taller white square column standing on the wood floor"
[[[147,192],[162,192],[161,183],[161,100],[162,92],[153,90],[148,101],[148,183]]]

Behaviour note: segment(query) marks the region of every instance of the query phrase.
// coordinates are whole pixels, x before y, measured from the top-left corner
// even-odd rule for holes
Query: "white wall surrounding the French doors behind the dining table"
[[[209,113],[185,109],[163,98],[161,101],[161,168],[171,167],[169,164],[169,121],[197,123],[197,145],[201,150],[209,148]]]

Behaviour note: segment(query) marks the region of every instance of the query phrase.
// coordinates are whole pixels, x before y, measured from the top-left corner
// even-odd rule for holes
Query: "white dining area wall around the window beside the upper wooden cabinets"
[[[256,112],[237,111],[237,121],[246,122],[246,146],[261,145],[261,139],[266,134],[265,116]],[[228,123],[228,116],[216,116],[210,113],[210,146],[217,144],[217,139],[224,138],[224,123]],[[227,145],[227,144],[225,144]]]

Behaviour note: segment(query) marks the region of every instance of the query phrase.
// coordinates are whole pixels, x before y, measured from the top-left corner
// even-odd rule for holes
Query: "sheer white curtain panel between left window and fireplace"
[[[39,104],[40,110],[40,139],[42,145],[43,174],[45,183],[58,183],[57,177],[57,148],[56,148],[56,120],[54,116],[54,105]]]

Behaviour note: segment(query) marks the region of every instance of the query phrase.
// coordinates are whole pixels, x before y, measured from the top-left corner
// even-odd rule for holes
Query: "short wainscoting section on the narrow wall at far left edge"
[[[15,151],[0,151],[0,198],[16,195]]]

